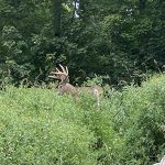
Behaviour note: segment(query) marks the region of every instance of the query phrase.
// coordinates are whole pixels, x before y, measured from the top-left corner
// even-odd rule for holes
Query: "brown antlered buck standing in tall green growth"
[[[100,107],[100,96],[102,94],[101,87],[75,87],[69,84],[68,68],[59,65],[59,69],[51,72],[48,77],[61,80],[58,84],[58,92],[72,95],[73,97],[80,95],[81,92],[91,94],[97,99],[97,107]]]

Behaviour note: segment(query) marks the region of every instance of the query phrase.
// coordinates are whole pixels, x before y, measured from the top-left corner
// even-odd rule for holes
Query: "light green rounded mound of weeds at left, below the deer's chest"
[[[96,164],[92,132],[69,98],[46,89],[0,95],[1,164]]]

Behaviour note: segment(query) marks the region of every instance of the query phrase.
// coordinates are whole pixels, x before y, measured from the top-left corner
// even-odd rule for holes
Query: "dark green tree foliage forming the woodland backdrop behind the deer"
[[[79,0],[76,11],[74,0],[64,1],[61,36],[54,36],[59,25],[53,23],[58,13],[52,2],[0,0],[0,77],[34,81],[42,70],[40,79],[46,80],[63,63],[76,84],[95,74],[118,84],[139,78],[134,72],[162,69],[164,1]]]

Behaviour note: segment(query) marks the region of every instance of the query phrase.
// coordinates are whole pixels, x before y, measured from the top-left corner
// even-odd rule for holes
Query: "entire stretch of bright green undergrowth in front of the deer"
[[[165,154],[165,76],[110,89],[96,110],[90,96],[55,89],[0,91],[2,165],[147,165]]]

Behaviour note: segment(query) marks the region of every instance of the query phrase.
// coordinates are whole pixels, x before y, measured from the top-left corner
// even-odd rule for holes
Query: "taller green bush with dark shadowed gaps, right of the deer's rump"
[[[105,99],[98,132],[109,152],[107,164],[144,165],[156,162],[165,154],[165,76],[152,77],[142,87],[125,87],[122,92],[111,91]],[[103,112],[102,112],[103,113]],[[103,121],[103,122],[102,122]],[[109,129],[106,129],[108,125]],[[108,133],[112,128],[113,136]],[[113,143],[112,143],[113,142]],[[112,145],[114,144],[114,145]]]

